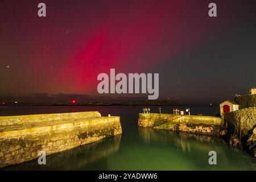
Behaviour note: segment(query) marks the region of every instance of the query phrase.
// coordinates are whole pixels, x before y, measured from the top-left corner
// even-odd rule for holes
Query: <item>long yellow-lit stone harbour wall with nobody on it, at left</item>
[[[92,117],[94,114],[98,116]],[[22,118],[42,118],[43,115],[40,115]],[[80,112],[63,113],[65,119],[61,119],[61,114],[57,115],[60,119],[55,118],[54,121],[46,114],[47,121],[24,119],[29,122],[0,125],[0,167],[36,159],[39,151],[49,155],[122,133],[120,118],[117,116],[99,117],[98,112]],[[72,115],[72,119],[66,119],[67,115]],[[4,119],[0,117],[0,120]]]

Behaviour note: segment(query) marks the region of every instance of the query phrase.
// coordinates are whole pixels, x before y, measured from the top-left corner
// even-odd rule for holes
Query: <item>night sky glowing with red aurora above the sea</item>
[[[159,73],[160,100],[247,94],[256,87],[256,1],[0,1],[1,102],[146,100],[98,94],[97,76],[110,68]]]

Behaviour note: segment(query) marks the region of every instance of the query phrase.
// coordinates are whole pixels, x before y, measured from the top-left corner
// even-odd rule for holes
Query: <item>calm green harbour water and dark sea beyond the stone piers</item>
[[[218,113],[218,106],[177,108],[186,107],[192,114]],[[151,112],[157,111],[157,106],[150,108]],[[172,113],[174,109],[173,106],[162,108],[163,113]],[[120,115],[123,134],[49,155],[45,166],[32,160],[5,169],[256,170],[256,160],[252,156],[228,146],[218,137],[137,127],[142,106],[5,106],[0,107],[0,115],[92,110],[98,110],[102,115]],[[217,165],[208,164],[211,150],[217,152]]]

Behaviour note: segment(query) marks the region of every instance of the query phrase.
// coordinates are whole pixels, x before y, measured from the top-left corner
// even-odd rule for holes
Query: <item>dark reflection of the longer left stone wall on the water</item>
[[[98,142],[85,144],[84,146],[76,147],[71,150],[59,152],[47,156],[47,164],[39,165],[37,159],[10,166],[4,169],[7,170],[93,170],[98,169],[98,165],[93,167],[93,164],[101,163],[102,169],[108,169],[108,162],[105,159],[107,156],[114,154],[119,150],[121,135],[106,138]]]

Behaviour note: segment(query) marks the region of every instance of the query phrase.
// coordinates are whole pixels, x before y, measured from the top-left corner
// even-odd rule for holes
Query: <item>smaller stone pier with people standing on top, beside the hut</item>
[[[199,115],[139,114],[138,126],[205,135],[219,135],[222,119]]]

